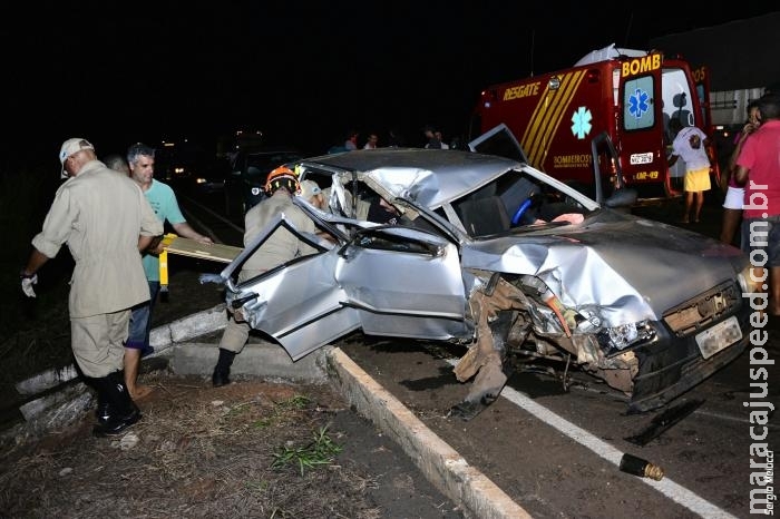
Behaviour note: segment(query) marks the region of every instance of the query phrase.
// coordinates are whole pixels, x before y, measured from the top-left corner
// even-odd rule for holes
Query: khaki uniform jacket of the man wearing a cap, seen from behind
[[[68,244],[76,262],[70,317],[89,317],[148,301],[138,237],[160,234],[163,224],[140,186],[91,160],[57,189],[32,245],[51,258]]]

